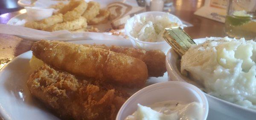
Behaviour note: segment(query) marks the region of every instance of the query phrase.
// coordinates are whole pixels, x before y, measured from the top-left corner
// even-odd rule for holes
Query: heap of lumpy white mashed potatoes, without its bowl
[[[180,69],[208,94],[256,109],[255,61],[256,42],[252,40],[207,38],[182,56]]]

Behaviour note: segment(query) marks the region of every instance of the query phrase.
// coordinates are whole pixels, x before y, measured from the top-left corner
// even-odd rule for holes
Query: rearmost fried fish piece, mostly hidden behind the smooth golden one
[[[97,47],[106,50],[111,50],[116,53],[123,53],[145,62],[148,67],[148,75],[151,77],[160,77],[166,72],[165,59],[166,55],[160,50],[140,50],[132,47],[118,47],[112,45],[84,45],[86,47]]]

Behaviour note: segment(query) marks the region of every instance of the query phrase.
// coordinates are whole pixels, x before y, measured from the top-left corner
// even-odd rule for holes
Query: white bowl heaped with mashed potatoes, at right
[[[166,55],[169,78],[189,82],[206,92],[209,117],[215,112],[230,120],[254,119],[256,42],[228,37],[194,41],[198,45],[189,48],[182,57],[169,50]]]

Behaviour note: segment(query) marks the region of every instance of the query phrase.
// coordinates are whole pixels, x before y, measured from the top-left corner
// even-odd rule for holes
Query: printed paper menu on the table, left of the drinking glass
[[[195,11],[195,15],[218,22],[225,22],[228,0],[205,0],[204,6]]]

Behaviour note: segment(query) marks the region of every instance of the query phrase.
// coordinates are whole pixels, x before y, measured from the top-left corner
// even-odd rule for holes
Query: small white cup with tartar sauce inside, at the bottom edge
[[[153,84],[132,95],[116,120],[206,120],[208,101],[192,84],[168,81]]]

